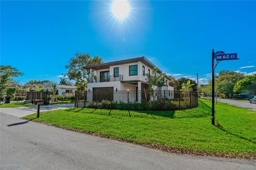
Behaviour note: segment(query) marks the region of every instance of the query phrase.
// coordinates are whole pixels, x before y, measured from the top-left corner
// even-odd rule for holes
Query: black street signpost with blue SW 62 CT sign
[[[214,117],[214,69],[217,66],[217,64],[222,61],[222,60],[230,60],[230,59],[239,59],[237,58],[237,53],[230,53],[230,54],[225,54],[225,52],[218,51],[214,53],[214,49],[212,49],[212,125],[215,125],[215,117]],[[215,63],[214,61],[217,61]]]

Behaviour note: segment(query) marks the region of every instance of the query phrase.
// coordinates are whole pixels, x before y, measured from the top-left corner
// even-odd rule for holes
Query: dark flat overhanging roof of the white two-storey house
[[[87,69],[87,70],[89,70],[89,69],[93,69],[93,70],[109,69],[109,66],[123,65],[126,63],[133,63],[133,62],[139,62],[139,61],[141,61],[142,63],[144,63],[146,66],[150,67],[151,69],[156,67],[146,57],[137,57],[137,58],[122,59],[119,61],[101,63],[98,65],[86,66],[86,67],[84,67],[84,69]],[[158,67],[156,67],[156,69],[158,69],[158,73],[162,73],[162,70],[160,70]]]

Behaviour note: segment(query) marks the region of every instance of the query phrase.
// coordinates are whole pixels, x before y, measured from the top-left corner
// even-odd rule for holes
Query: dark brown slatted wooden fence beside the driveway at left
[[[32,101],[32,100],[39,100],[42,99],[44,105],[49,104],[49,91],[31,91],[27,92],[26,100]]]

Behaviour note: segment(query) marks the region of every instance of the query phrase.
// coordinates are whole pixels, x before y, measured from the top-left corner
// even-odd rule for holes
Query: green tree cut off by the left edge
[[[0,102],[6,97],[7,88],[12,78],[23,75],[18,69],[11,66],[0,66]]]

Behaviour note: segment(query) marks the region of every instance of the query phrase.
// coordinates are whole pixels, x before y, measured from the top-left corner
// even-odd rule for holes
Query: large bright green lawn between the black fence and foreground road
[[[71,108],[48,111],[32,121],[170,152],[256,159],[256,112],[218,103],[184,111],[119,111]],[[35,118],[35,114],[24,117]]]

